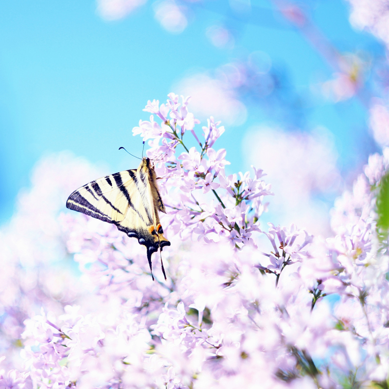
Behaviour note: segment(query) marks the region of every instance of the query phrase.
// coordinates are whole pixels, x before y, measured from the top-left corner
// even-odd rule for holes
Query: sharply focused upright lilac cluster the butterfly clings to
[[[174,93],[168,97],[167,103],[160,106],[159,101],[149,101],[144,111],[153,114],[150,121],[141,121],[133,129],[133,134],[141,135],[144,141],[153,139],[147,155],[155,160],[162,193],[169,193],[165,225],[181,239],[195,234],[206,243],[229,241],[236,248],[255,245],[251,234],[260,232],[257,221],[267,206],[263,200],[272,195],[270,185],[262,179],[263,171],[254,168],[254,177],[248,172],[239,177],[227,175],[225,166],[230,162],[225,159],[226,151],[213,148],[224,127],[211,117],[202,127],[200,141],[194,130],[199,121],[188,111],[189,98],[182,97],[179,102]],[[160,124],[154,121],[154,115],[162,121]],[[185,145],[187,132],[194,137],[197,148]],[[178,146],[184,151],[176,155]]]

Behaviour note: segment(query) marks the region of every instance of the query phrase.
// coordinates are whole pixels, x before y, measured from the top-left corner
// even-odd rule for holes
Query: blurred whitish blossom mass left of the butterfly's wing
[[[29,315],[42,306],[61,310],[88,294],[67,260],[58,216],[74,188],[103,173],[70,153],[43,158],[33,171],[32,188],[19,194],[17,211],[0,230],[0,347],[10,370],[22,368],[19,339]]]

